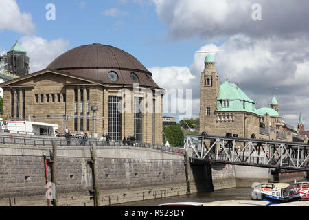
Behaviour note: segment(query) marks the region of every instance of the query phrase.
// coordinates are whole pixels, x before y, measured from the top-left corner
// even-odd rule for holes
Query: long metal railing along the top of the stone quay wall
[[[69,144],[64,137],[31,137],[31,135],[14,136],[14,135],[0,135],[0,144],[22,144],[30,146],[52,146],[55,142],[58,146],[131,146],[140,148],[152,148],[160,151],[167,151],[171,153],[184,154],[185,148],[166,147],[159,144],[148,144],[138,142],[122,142],[122,140],[93,140],[89,139],[84,143],[80,143],[78,138],[71,138]],[[1,146],[0,146],[1,147]]]

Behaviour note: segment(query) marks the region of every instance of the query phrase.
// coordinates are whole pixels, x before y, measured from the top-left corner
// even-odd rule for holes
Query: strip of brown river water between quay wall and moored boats
[[[115,206],[159,206],[163,203],[174,203],[181,201],[207,203],[222,200],[250,200],[252,191],[253,188],[227,188],[223,190],[215,190],[214,192],[199,192],[191,195],[179,195],[176,197],[135,201],[117,204]]]

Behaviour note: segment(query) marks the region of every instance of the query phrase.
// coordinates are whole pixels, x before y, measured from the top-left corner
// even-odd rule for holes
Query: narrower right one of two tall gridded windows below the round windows
[[[141,100],[142,98],[139,97],[134,98],[134,137],[139,143],[143,141]]]

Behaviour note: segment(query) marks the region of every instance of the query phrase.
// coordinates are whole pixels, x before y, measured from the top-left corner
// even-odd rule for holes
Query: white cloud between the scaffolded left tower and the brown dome
[[[45,69],[49,63],[67,50],[69,42],[64,39],[47,41],[39,36],[23,36],[21,46],[31,59],[31,72]]]

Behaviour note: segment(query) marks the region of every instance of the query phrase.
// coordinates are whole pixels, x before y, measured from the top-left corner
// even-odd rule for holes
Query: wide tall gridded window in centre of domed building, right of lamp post
[[[121,97],[108,96],[108,134],[111,140],[122,140],[122,113],[118,111]]]

